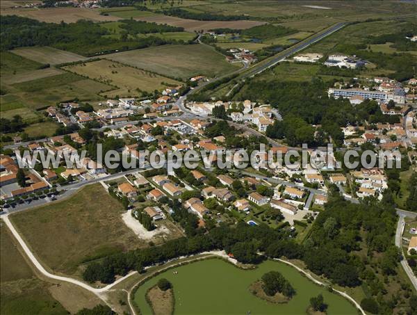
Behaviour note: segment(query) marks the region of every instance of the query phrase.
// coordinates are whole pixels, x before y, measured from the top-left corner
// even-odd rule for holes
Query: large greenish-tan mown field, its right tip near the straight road
[[[224,56],[206,45],[165,45],[109,54],[106,58],[182,79],[197,74],[218,76],[239,67],[227,63]]]

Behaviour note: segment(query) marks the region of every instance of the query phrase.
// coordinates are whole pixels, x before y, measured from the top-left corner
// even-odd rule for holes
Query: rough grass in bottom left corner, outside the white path
[[[23,259],[6,225],[0,226],[0,314],[67,314]]]

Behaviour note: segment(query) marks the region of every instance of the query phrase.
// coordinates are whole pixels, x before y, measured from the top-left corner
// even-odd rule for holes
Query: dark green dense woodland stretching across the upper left
[[[126,32],[120,39],[110,38],[110,31],[92,21],[76,23],[45,23],[15,15],[1,17],[1,51],[28,46],[51,46],[72,51],[83,56],[94,56],[115,50],[139,49],[149,46],[177,43],[157,36],[140,38],[128,36],[139,33],[181,31],[182,28],[155,23],[125,20],[122,29]]]

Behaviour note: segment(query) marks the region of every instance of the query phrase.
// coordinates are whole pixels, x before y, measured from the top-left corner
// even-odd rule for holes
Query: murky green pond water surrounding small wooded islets
[[[250,284],[270,270],[284,275],[297,292],[288,303],[272,304],[250,293]],[[284,263],[265,261],[254,270],[242,270],[221,259],[172,268],[142,284],[135,293],[141,314],[152,314],[145,293],[162,277],[170,280],[174,288],[174,314],[306,314],[310,298],[319,293],[329,305],[327,314],[358,314],[348,300],[314,284]]]

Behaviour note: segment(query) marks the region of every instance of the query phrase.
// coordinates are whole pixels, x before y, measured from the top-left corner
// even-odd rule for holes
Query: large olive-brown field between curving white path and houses
[[[75,273],[83,262],[141,245],[124,225],[122,211],[122,204],[95,184],[10,220],[44,265]]]

